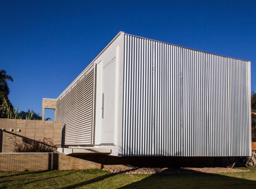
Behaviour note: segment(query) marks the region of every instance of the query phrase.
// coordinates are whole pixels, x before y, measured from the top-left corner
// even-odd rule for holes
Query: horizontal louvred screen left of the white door
[[[62,121],[62,144],[92,144],[94,67],[91,64],[57,100],[57,121]]]

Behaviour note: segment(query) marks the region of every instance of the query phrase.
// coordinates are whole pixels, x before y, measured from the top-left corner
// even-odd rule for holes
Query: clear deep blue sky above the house
[[[57,98],[119,31],[250,60],[256,91],[256,1],[1,1],[14,107],[41,115],[42,98]]]

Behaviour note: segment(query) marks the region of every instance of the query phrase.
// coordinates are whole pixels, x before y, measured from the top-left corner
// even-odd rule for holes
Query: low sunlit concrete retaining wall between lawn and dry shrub
[[[1,171],[101,169],[101,164],[63,153],[0,153]]]

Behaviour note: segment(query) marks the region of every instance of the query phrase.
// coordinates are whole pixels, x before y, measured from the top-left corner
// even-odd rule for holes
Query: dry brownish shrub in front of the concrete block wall
[[[57,152],[56,149],[58,147],[58,145],[52,143],[51,139],[47,138],[42,141],[23,138],[20,142],[14,137],[12,144],[14,144],[13,152]]]

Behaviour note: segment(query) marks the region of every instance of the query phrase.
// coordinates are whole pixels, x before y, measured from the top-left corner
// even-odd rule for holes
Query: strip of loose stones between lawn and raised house
[[[239,170],[223,167],[204,167],[204,168],[103,168],[111,173],[116,174],[195,174],[195,173],[234,173],[234,172],[249,172],[249,170]]]

